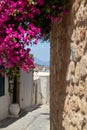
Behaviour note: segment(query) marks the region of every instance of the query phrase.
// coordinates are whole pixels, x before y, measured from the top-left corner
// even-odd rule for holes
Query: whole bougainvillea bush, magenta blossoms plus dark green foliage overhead
[[[37,44],[53,23],[61,22],[68,6],[69,0],[0,0],[0,71],[34,68],[26,45]]]

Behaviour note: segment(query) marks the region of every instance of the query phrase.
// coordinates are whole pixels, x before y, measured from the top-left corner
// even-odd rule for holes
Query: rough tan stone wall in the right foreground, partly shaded
[[[51,31],[51,130],[87,130],[87,0]]]

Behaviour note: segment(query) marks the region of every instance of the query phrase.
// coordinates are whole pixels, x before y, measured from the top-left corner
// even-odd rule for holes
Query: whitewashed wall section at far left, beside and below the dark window
[[[8,79],[5,78],[5,95],[0,97],[0,120],[8,116],[9,100]]]

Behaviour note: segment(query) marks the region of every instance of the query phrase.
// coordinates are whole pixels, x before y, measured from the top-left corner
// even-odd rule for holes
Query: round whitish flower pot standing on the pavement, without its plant
[[[10,104],[9,112],[13,116],[17,116],[20,112],[20,106],[18,103]]]

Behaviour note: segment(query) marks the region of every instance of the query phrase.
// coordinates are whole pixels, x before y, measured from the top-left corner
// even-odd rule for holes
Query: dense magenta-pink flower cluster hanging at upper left
[[[30,49],[25,47],[31,40],[37,44],[40,38],[40,28],[28,21],[35,14],[40,10],[29,0],[0,0],[0,66],[17,66],[25,71],[34,68]]]

